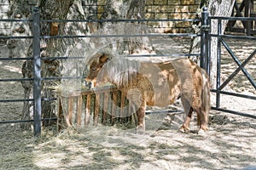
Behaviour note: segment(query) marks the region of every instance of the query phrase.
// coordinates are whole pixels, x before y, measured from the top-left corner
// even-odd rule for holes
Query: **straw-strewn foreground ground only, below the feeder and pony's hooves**
[[[156,118],[148,117],[148,120]],[[144,135],[119,126],[68,127],[60,133],[47,128],[41,137],[34,138],[32,132],[23,132],[15,125],[1,125],[0,169],[242,169],[256,166],[255,135],[252,135],[255,121],[241,120],[241,116],[233,119],[225,124],[212,122],[212,127],[218,130],[210,130],[205,136],[177,133],[177,126],[172,124],[166,130],[148,129]]]

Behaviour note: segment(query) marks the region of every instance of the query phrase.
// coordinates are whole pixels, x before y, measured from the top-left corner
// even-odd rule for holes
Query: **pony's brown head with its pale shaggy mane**
[[[86,82],[91,82],[92,88],[110,82],[117,88],[125,87],[137,77],[140,62],[125,59],[124,55],[113,54],[108,51],[91,55],[87,62],[88,71]]]

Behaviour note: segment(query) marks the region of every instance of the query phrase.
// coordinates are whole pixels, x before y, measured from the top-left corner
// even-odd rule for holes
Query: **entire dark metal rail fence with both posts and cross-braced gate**
[[[248,61],[250,59],[253,58],[253,56],[255,55],[255,50],[253,52],[253,54],[251,54],[246,61],[244,62],[240,62],[239,60],[236,59],[236,56],[234,54],[231,54],[231,56],[236,60],[236,63],[238,65],[238,68],[236,69],[236,71],[226,80],[226,82],[220,84],[220,64],[221,64],[221,52],[220,52],[220,45],[221,43],[225,44],[225,42],[223,41],[223,37],[228,37],[228,38],[247,38],[250,40],[256,40],[256,37],[237,37],[237,36],[225,36],[225,35],[220,35],[220,33],[218,32],[217,35],[215,34],[211,34],[210,31],[210,23],[211,20],[218,20],[218,27],[219,29],[221,29],[221,20],[235,20],[233,18],[224,18],[224,17],[209,17],[209,14],[207,12],[207,9],[205,8],[205,10],[202,13],[202,19],[201,19],[201,34],[196,35],[196,34],[190,34],[190,33],[180,33],[180,34],[148,34],[146,36],[148,37],[201,37],[201,54],[177,54],[177,55],[171,55],[171,56],[189,56],[189,55],[201,55],[201,67],[205,68],[207,70],[207,72],[210,72],[210,61],[211,61],[211,52],[210,52],[210,47],[211,47],[211,38],[212,37],[218,37],[218,75],[217,75],[217,88],[213,88],[212,92],[217,94],[216,97],[216,105],[212,106],[212,109],[214,110],[218,110],[218,111],[227,111],[230,113],[234,113],[237,115],[241,115],[241,116],[249,116],[249,117],[253,117],[256,118],[255,115],[251,115],[251,114],[247,114],[247,113],[240,113],[237,111],[230,111],[230,110],[226,110],[226,109],[222,109],[219,107],[219,100],[220,100],[220,94],[227,94],[227,95],[234,95],[234,96],[238,96],[241,98],[247,98],[247,99],[253,99],[256,100],[255,96],[249,96],[249,95],[244,95],[244,94],[235,94],[235,93],[228,93],[223,91],[222,89],[224,88],[224,86],[226,86],[226,84],[234,77],[236,76],[238,71],[243,71],[245,73],[245,75],[247,76],[247,78],[250,80],[250,82],[253,84],[253,87],[255,88],[255,82],[253,80],[253,77],[251,77],[246,69],[244,68],[245,65],[247,65]],[[255,18],[237,18],[236,20],[256,20]],[[31,22],[32,23],[32,36],[28,36],[28,37],[5,37],[5,36],[1,36],[0,39],[17,39],[17,38],[30,38],[32,39],[32,57],[27,57],[27,58],[22,58],[22,59],[30,59],[33,60],[33,77],[32,78],[9,78],[9,79],[0,79],[0,82],[9,82],[9,81],[15,81],[15,82],[21,82],[21,81],[33,81],[33,99],[0,99],[0,102],[6,103],[6,102],[24,102],[24,101],[32,101],[33,102],[33,119],[32,120],[15,120],[15,121],[2,121],[0,120],[0,124],[1,123],[17,123],[17,122],[33,122],[33,126],[34,126],[34,134],[38,135],[41,133],[41,122],[42,121],[49,121],[47,119],[42,119],[41,116],[41,101],[42,100],[47,100],[47,99],[43,99],[41,96],[41,82],[44,81],[45,77],[41,77],[41,61],[42,58],[40,58],[40,40],[41,39],[47,39],[47,38],[76,38],[76,37],[80,37],[80,38],[88,38],[88,37],[99,37],[99,36],[64,36],[64,35],[60,35],[60,36],[41,36],[40,35],[40,22],[44,21],[44,22],[52,22],[52,21],[57,21],[57,22],[76,22],[76,21],[81,21],[81,20],[40,20],[40,14],[38,11],[38,8],[34,9],[33,12],[33,18],[32,20],[0,20],[1,21],[20,21],[20,22]],[[135,21],[143,21],[143,22],[147,22],[147,21],[189,21],[189,22],[193,22],[193,21],[199,21],[197,19],[188,19],[188,20],[83,20],[83,22],[135,22]],[[116,37],[143,37],[145,35],[111,35],[111,36],[116,36]],[[104,35],[102,35],[102,37],[104,37]],[[105,37],[108,37],[108,35],[105,35]],[[227,48],[229,50],[229,48]],[[156,55],[157,56],[157,55]],[[19,60],[20,58],[0,58],[1,60]],[[56,59],[56,58],[55,58]],[[59,59],[67,59],[66,57],[62,57]],[[65,77],[53,77],[52,79],[61,79],[61,78],[65,78]],[[50,79],[50,78],[48,78]],[[255,88],[256,89],[256,88]],[[51,118],[51,120],[56,120],[56,118]]]

